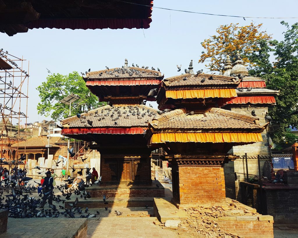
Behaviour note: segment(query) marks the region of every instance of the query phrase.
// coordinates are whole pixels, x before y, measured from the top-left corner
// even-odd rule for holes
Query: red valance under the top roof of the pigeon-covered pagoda
[[[87,81],[86,86],[117,86],[117,85],[154,85],[160,84],[161,81],[157,79],[150,79],[150,80],[96,80],[96,81]]]

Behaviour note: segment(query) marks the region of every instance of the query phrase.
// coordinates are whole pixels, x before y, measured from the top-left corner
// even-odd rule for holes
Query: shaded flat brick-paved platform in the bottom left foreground
[[[86,238],[87,227],[88,219],[84,218],[9,218],[7,231],[1,238]]]

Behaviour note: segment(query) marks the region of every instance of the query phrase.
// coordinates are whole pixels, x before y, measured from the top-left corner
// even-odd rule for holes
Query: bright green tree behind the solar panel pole
[[[71,93],[80,96],[79,100],[72,103],[71,115],[103,105],[94,94],[90,93],[90,97],[87,96],[90,90],[86,87],[82,76],[76,71],[68,75],[60,73],[48,75],[46,82],[42,82],[36,89],[41,99],[41,102],[37,105],[38,114],[51,115],[51,118],[55,121],[68,117],[69,105],[62,104],[59,101]]]

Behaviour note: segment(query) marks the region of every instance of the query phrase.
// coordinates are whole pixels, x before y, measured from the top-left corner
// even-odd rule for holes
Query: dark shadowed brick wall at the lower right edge
[[[273,216],[275,223],[297,224],[298,186],[265,187],[263,190],[263,212]]]

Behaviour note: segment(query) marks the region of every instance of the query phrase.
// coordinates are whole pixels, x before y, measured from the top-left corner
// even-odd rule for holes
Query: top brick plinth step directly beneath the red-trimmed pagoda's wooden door
[[[156,184],[159,187],[156,187]],[[93,185],[86,188],[92,198],[106,197],[164,197],[164,187],[159,181],[153,181],[150,186],[98,186]]]

